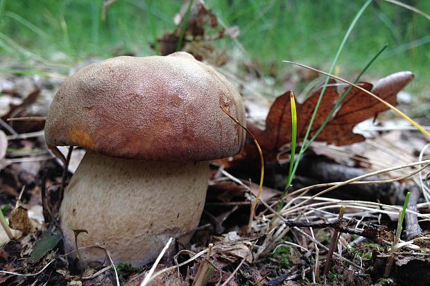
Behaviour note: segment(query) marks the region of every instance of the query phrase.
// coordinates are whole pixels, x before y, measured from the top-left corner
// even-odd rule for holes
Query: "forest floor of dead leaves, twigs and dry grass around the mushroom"
[[[8,222],[0,217],[0,285],[144,285],[148,276],[146,285],[430,285],[429,119],[414,118],[419,132],[357,88],[336,107],[345,84],[331,81],[310,135],[324,128],[300,154],[289,184],[289,90],[296,93],[298,153],[325,78],[298,68],[274,88],[258,66],[237,60],[240,48],[225,53],[202,40],[203,24],[216,28],[216,16],[196,9],[182,51],[218,66],[240,90],[264,158],[262,188],[261,157],[248,135],[239,154],[211,162],[200,224],[189,244],[173,242],[173,258],[80,269],[64,252],[56,220],[63,186],[85,150],[75,148],[65,170],[43,132],[65,78],[3,73],[0,206]],[[175,51],[178,33],[157,43],[163,54]],[[234,34],[223,27],[216,37]],[[411,80],[401,72],[360,86],[408,113],[411,95],[402,89]],[[261,96],[267,89],[279,96]]]

